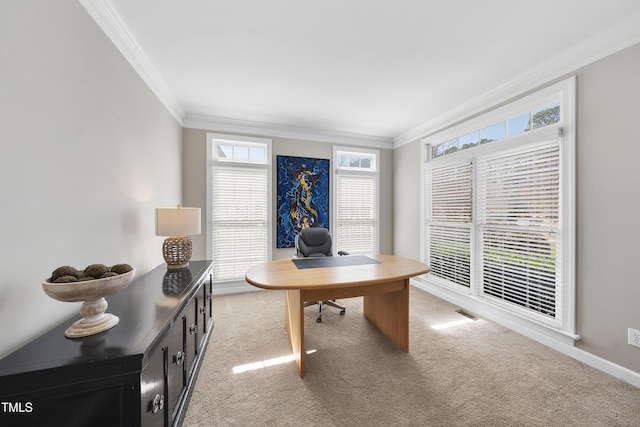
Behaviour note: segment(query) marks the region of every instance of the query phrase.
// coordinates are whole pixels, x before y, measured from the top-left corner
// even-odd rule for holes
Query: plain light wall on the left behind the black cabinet
[[[75,0],[3,1],[0,64],[2,357],[78,313],[42,291],[54,268],[162,262],[182,134]]]

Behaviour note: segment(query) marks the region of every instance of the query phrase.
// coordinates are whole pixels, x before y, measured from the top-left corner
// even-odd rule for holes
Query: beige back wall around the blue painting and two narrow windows
[[[184,201],[188,206],[206,208],[206,134],[204,130],[184,129]],[[270,138],[269,135],[252,135]],[[271,138],[273,164],[277,155],[317,157],[331,159],[333,145],[324,142],[299,141],[284,138]],[[344,144],[337,144],[347,146]],[[380,149],[380,253],[393,252],[393,151]],[[273,173],[273,198],[276,195],[276,168]],[[333,187],[333,183],[331,184]],[[275,203],[272,209],[273,218],[276,218]],[[333,213],[332,213],[333,214]],[[202,230],[199,236],[194,236],[194,258],[206,257],[206,235],[204,215]],[[275,226],[273,227],[273,241],[275,242]],[[273,248],[273,258],[287,258],[292,256],[293,249]]]

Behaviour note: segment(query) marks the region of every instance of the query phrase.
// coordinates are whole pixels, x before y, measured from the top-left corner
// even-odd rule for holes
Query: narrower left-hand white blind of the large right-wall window
[[[433,276],[471,286],[471,162],[425,169],[426,245]]]

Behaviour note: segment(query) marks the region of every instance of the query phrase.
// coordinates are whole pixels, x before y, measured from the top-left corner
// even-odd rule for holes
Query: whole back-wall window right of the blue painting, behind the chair
[[[335,251],[378,252],[378,152],[334,148]]]

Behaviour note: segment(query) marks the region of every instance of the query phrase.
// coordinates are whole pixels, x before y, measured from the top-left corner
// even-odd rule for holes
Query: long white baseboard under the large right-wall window
[[[441,292],[438,288],[428,286],[425,283],[415,279],[411,280],[411,285],[432,295],[435,295],[438,298],[442,298],[452,304],[458,305],[467,310],[471,310],[474,312],[474,314],[477,314],[487,320],[504,326],[505,328],[511,329],[514,332],[517,332],[527,338],[544,344],[547,347],[550,347],[562,354],[583,362],[595,369],[598,369],[599,371],[605,372],[613,377],[621,379],[622,381],[640,388],[640,373],[632,371],[631,369],[625,368],[624,366],[620,366],[609,360],[596,356],[595,354],[575,347],[574,345],[567,342],[566,337],[556,337],[556,339],[554,339],[548,334],[542,334],[539,331],[536,331],[535,328],[527,327],[523,323],[515,322],[508,316],[501,316],[497,314],[493,309],[483,308],[482,304],[469,304],[468,300],[464,298],[464,295],[460,295],[458,298],[456,298],[455,296],[452,296],[447,292]]]

